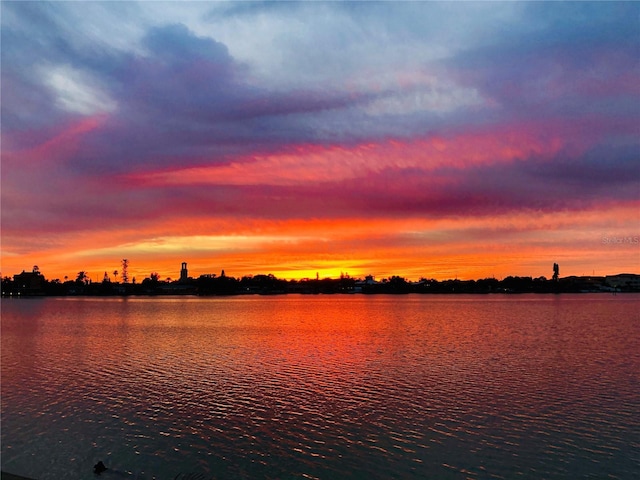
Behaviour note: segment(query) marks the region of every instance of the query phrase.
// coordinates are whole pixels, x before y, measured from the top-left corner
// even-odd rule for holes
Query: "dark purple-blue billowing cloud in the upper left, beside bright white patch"
[[[255,148],[323,141],[310,117],[337,114],[370,98],[366,92],[252,86],[245,81],[246,66],[224,45],[181,25],[153,28],[142,43],[146,55],[121,56],[112,65],[108,81],[119,108],[71,159],[78,168],[87,167],[87,158],[91,168],[114,170],[176,157],[215,164]],[[326,127],[332,130],[330,119]]]

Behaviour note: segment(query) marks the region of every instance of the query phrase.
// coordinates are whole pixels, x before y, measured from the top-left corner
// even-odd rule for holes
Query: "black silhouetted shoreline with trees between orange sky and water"
[[[570,276],[547,279],[545,277],[508,276],[501,280],[443,280],[421,278],[409,281],[391,276],[376,280],[372,275],[353,278],[315,278],[284,280],[274,275],[255,275],[235,278],[221,275],[201,275],[198,278],[181,275],[180,280],[162,281],[152,274],[142,282],[112,282],[105,274],[102,282],[92,282],[85,272],[76,280],[47,280],[34,268],[13,278],[2,278],[2,296],[237,296],[237,295],[286,295],[286,294],[522,294],[522,293],[624,293],[640,292],[640,275],[620,273],[601,276]]]

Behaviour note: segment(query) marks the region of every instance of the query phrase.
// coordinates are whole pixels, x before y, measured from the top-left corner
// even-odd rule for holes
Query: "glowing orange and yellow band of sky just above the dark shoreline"
[[[178,234],[198,224],[184,219],[139,231],[60,234],[37,248],[28,245],[25,253],[7,251],[10,243],[4,241],[2,275],[38,265],[48,279],[73,279],[83,270],[101,281],[104,272],[112,276],[120,271],[122,258],[129,259],[130,276],[137,281],[151,272],[177,279],[183,261],[193,277],[221,270],[234,277],[271,273],[285,279],[315,278],[316,273],[320,278],[348,273],[410,280],[550,277],[554,262],[561,265],[562,276],[634,273],[640,271],[640,246],[605,243],[603,238],[633,237],[627,226],[636,218],[637,208],[630,204],[605,214],[593,210],[536,217],[203,220],[192,230],[195,236]],[[212,230],[220,234],[206,235]]]

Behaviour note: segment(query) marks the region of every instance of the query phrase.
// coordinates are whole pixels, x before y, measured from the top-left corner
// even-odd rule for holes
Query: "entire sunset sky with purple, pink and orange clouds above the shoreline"
[[[1,8],[1,274],[640,273],[640,3]]]

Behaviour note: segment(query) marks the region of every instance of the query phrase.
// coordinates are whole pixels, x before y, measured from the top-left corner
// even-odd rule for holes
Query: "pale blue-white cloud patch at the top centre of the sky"
[[[390,72],[447,58],[499,34],[521,10],[480,2],[242,2],[219,4],[206,18],[263,81],[336,88],[379,85]]]

